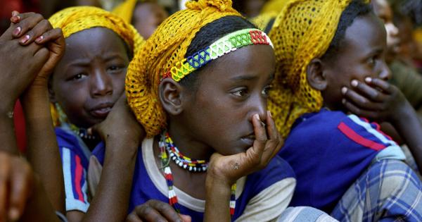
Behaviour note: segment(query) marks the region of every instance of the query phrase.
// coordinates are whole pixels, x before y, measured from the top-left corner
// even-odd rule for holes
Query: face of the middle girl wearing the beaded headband
[[[252,45],[205,67],[198,73],[196,92],[183,92],[183,112],[176,118],[184,139],[193,142],[193,147],[207,147],[223,155],[252,147],[252,116],[258,113],[262,121],[266,119],[274,66],[271,47]]]

